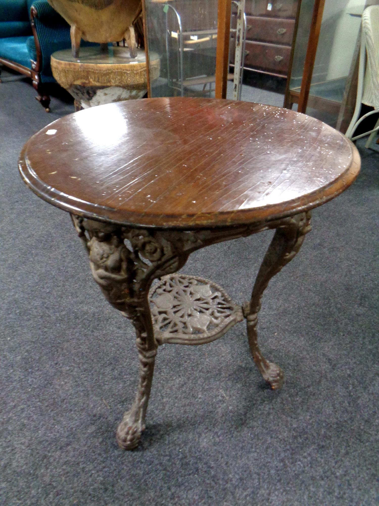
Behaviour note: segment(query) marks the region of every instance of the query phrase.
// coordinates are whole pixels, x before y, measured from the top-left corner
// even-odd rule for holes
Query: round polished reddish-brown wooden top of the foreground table
[[[44,200],[87,218],[159,228],[259,222],[316,207],[357,177],[342,134],[249,102],[157,98],[69,114],[19,161]]]

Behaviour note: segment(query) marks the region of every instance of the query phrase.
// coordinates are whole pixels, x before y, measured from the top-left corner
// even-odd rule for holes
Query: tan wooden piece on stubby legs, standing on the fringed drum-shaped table
[[[71,25],[72,55],[79,57],[80,40],[109,42],[126,39],[130,56],[136,56],[133,22],[141,12],[141,0],[48,0]]]

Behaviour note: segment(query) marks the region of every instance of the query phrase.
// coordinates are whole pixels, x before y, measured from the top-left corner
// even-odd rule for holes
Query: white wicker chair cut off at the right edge
[[[358,119],[362,104],[374,109]],[[357,101],[346,137],[355,141],[371,134],[366,142],[366,148],[368,148],[379,130],[379,119],[373,130],[356,137],[353,137],[353,134],[357,126],[374,113],[379,113],[379,5],[367,7],[362,14]]]

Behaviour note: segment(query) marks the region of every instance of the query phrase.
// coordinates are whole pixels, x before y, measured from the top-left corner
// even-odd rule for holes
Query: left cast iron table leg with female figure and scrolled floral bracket
[[[125,450],[132,450],[145,429],[158,347],[148,301],[149,288],[154,278],[182,267],[188,253],[180,249],[180,240],[176,241],[179,244],[176,250],[170,240],[165,239],[164,232],[125,229],[75,216],[72,219],[88,251],[94,280],[108,302],[132,321],[136,331],[139,385],[131,409],[117,429],[118,444]]]

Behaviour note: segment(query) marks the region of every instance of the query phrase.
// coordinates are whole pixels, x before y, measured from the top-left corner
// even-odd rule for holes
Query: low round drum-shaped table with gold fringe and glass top
[[[140,49],[136,52],[136,57],[131,58],[128,48],[112,46],[103,51],[92,46],[81,48],[80,57],[74,57],[70,49],[63,49],[52,54],[52,72],[74,97],[76,109],[142,98],[148,89],[146,55]],[[159,73],[160,59],[152,53],[151,81]]]

